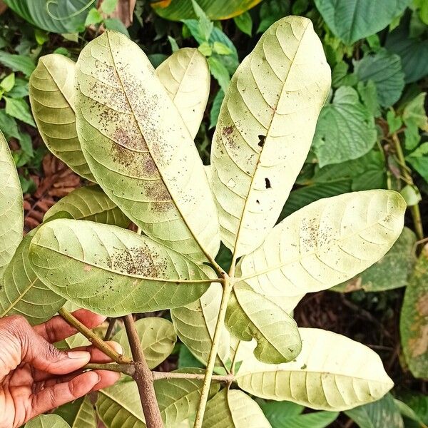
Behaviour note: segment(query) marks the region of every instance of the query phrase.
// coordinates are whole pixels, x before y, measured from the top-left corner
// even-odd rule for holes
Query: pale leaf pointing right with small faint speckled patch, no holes
[[[240,260],[242,281],[274,302],[340,284],[387,253],[402,231],[405,209],[392,190],[317,200],[282,220]]]

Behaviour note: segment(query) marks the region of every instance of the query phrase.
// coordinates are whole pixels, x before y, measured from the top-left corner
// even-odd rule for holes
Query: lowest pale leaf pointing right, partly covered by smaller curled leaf
[[[267,365],[246,358],[236,374],[238,385],[265,399],[337,411],[373,402],[394,385],[369,347],[326,330],[299,331],[302,352],[295,361]]]

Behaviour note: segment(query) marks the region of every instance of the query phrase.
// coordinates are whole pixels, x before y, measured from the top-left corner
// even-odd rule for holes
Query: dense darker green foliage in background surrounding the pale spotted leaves
[[[260,400],[259,404],[274,428],[350,427],[352,423],[362,428],[425,427],[428,258],[422,247],[424,230],[428,230],[428,1],[4,3],[9,9],[0,17],[0,129],[19,168],[27,231],[41,223],[58,198],[81,185],[77,175],[46,154],[35,129],[28,101],[29,75],[39,56],[57,53],[76,61],[85,44],[105,28],[136,41],[156,67],[178,48],[198,47],[213,76],[208,110],[195,137],[206,164],[225,89],[240,60],[282,16],[297,14],[312,20],[332,68],[332,91],[281,218],[320,198],[373,188],[398,190],[409,210],[407,228],[379,263],[335,287],[335,292],[307,295],[295,317],[302,327],[345,333],[373,347],[396,388],[379,402],[340,415],[307,412],[290,402]],[[230,263],[225,248],[218,262]],[[157,315],[167,317],[163,312]],[[171,334],[165,332],[165,337],[175,342]],[[153,367],[162,360],[154,352]],[[162,364],[164,370],[173,370],[199,363],[178,342]],[[109,399],[106,393],[97,402],[98,410],[106,409],[106,418],[113,406]],[[79,404],[83,409],[86,405]],[[46,418],[55,423],[54,417]],[[69,414],[64,419],[78,426]]]

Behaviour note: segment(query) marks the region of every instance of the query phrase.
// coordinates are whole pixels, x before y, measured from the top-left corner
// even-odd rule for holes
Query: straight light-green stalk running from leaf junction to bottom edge
[[[193,428],[202,427],[203,415],[205,413],[208,394],[210,392],[211,379],[213,379],[215,358],[217,357],[218,345],[220,344],[221,327],[225,322],[226,310],[228,308],[229,297],[232,289],[233,282],[230,281],[229,277],[225,277],[225,282],[223,284],[223,296],[221,297],[220,310],[218,311],[217,322],[215,324],[213,344],[211,345],[210,355],[208,356],[207,371],[205,372],[205,377],[203,379],[203,387],[200,394],[198,412],[196,412],[195,424],[193,425]]]

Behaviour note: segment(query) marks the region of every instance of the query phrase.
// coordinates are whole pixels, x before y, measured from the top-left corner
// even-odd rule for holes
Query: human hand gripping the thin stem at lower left
[[[88,310],[73,315],[88,328],[105,320]],[[38,414],[119,379],[119,373],[107,370],[73,373],[88,362],[111,362],[93,346],[63,352],[52,345],[75,333],[61,317],[36,327],[17,315],[0,319],[0,428],[21,427]],[[123,352],[118,343],[108,343]]]

